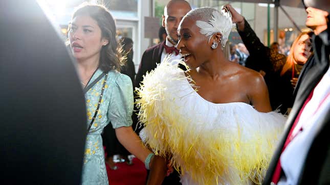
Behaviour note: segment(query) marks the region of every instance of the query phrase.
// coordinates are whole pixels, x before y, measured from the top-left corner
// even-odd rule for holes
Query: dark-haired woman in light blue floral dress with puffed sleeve
[[[81,5],[72,16],[69,41],[85,91],[86,127],[89,127],[82,184],[108,184],[100,134],[109,122],[121,144],[149,168],[151,158],[155,157],[131,127],[133,86],[130,78],[119,72],[123,60],[112,15],[103,6]],[[159,167],[166,168],[165,162]]]

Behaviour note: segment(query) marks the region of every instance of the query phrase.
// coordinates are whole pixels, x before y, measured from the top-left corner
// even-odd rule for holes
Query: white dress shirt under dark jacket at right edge
[[[278,185],[297,184],[301,167],[315,137],[320,117],[329,114],[330,107],[330,69],[323,75],[315,87],[311,100],[305,105],[300,119],[293,130],[294,139],[280,156],[281,167],[285,175],[281,176]],[[300,130],[302,128],[302,130]]]

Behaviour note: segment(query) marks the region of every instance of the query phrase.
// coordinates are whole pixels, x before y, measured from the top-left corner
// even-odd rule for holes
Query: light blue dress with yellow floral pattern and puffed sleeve
[[[92,83],[102,71],[98,69],[92,76]],[[131,126],[133,113],[133,86],[125,74],[109,71],[98,114],[86,137],[85,154],[82,168],[82,184],[108,184],[104,162],[104,150],[101,133],[103,128],[112,123],[114,128]],[[90,124],[99,101],[104,77],[85,94],[87,121]],[[87,85],[88,86],[88,85]]]

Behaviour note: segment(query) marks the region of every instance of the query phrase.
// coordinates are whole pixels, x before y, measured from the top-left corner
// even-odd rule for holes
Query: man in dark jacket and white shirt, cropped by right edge
[[[330,2],[318,2],[304,2],[306,26],[315,33],[314,56],[299,76],[295,102],[273,154],[265,185],[330,184]]]

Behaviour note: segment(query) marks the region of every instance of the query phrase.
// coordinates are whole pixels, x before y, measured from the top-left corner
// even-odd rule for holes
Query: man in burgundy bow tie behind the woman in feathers
[[[143,76],[147,72],[155,69],[157,64],[160,64],[165,57],[171,55],[171,60],[182,58],[181,54],[179,54],[179,50],[175,47],[179,41],[177,30],[181,19],[190,10],[191,7],[185,0],[171,0],[168,2],[164,8],[164,15],[162,16],[162,26],[165,28],[167,33],[166,40],[144,51],[139,70],[136,75],[135,87],[140,88],[140,83],[143,81]],[[139,133],[142,128],[136,126],[138,124],[137,112],[133,113],[133,121],[133,128],[136,129],[135,131],[137,133]],[[174,171],[166,177],[163,184],[181,184],[178,172]]]

